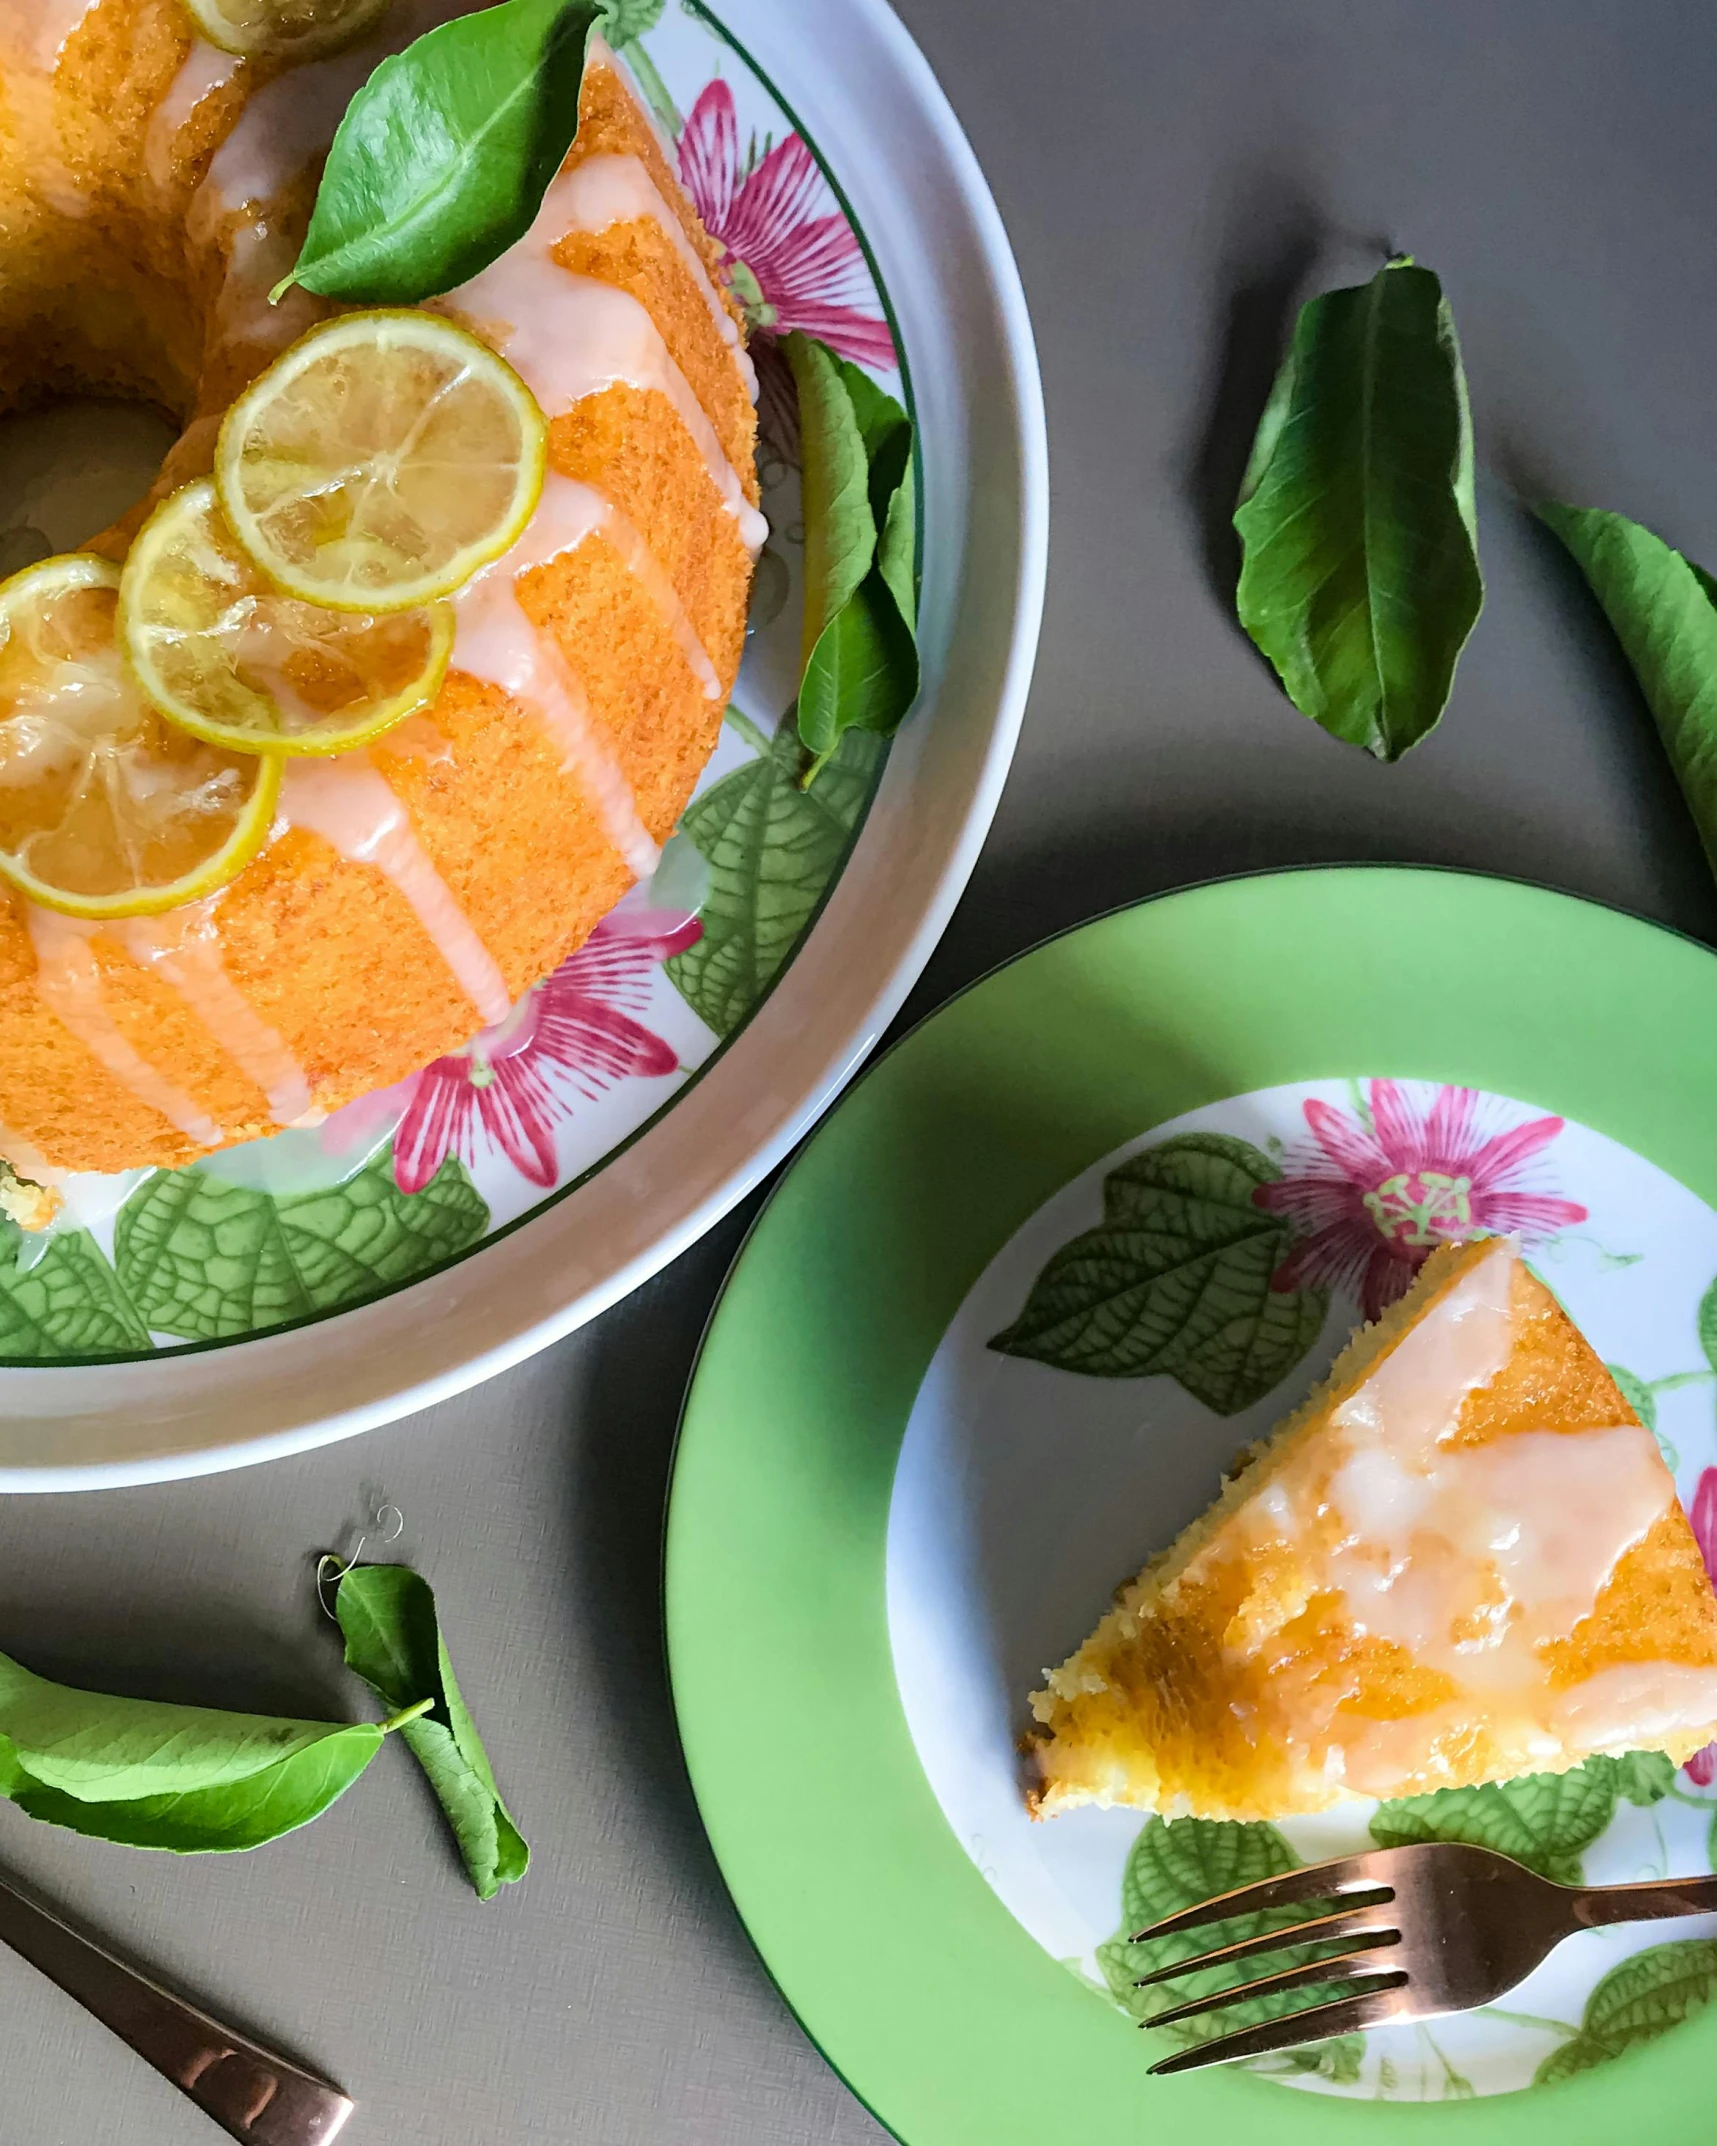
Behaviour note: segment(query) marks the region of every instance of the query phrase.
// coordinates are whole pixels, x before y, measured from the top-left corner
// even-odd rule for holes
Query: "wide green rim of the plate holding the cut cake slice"
[[[1562,2086],[1352,2103],[1146,2077],[955,1841],[895,1689],[884,1543],[919,1382],[1058,1187],[1279,1082],[1457,1082],[1580,1118],[1717,1206],[1717,959],[1509,880],[1335,867],[1161,895],[912,1030],[758,1219],[704,1337],[667,1513],[680,1738],[721,1871],[805,2030],[910,2146],[1397,2137],[1586,2146],[1711,2122],[1717,2007]],[[1107,1575],[1097,1575],[1099,1579]]]

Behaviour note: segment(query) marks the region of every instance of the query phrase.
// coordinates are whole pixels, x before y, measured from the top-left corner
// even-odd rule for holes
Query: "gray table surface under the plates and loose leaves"
[[[1717,564],[1708,9],[901,13],[1013,234],[1054,466],[1024,745],[912,1011],[1118,901],[1305,861],[1517,873],[1715,936],[1650,725],[1509,491],[1631,511]],[[1444,727],[1397,768],[1301,721],[1223,601],[1283,320],[1303,288],[1365,273],[1376,240],[1444,277],[1487,470],[1485,616]],[[309,1554],[376,1498],[401,1506],[537,1854],[524,1886],[474,1901],[403,1749],[253,1856],[172,1863],[0,1809],[0,1863],[341,2079],[354,2146],[882,2137],[747,1946],[663,1682],[670,1442],[743,1219],[410,1423],[217,1481],[0,1506],[2,1646],[73,1680],[285,1713],[350,1700]],[[217,2135],[9,1953],[0,2007],[6,2146]]]

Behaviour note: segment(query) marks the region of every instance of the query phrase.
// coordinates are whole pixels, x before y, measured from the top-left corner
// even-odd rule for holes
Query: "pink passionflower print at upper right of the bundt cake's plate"
[[[680,135],[680,182],[721,245],[728,283],[753,333],[803,328],[854,365],[895,363],[865,253],[816,157],[790,133],[749,163],[725,82],[710,82]]]

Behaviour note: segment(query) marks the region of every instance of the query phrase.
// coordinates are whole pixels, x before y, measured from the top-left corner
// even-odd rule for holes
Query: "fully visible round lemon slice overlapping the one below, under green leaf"
[[[545,459],[543,412],[487,343],[440,313],[341,313],[228,410],[215,483],[288,594],[406,612],[500,558]]]

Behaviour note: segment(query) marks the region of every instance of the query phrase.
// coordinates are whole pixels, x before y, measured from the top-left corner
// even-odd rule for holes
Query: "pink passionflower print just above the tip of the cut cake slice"
[[[1374,1320],[1406,1296],[1438,1245],[1489,1232],[1532,1243],[1586,1219],[1532,1170],[1560,1118],[1489,1131],[1474,1088],[1438,1088],[1423,1107],[1393,1079],[1371,1082],[1369,1116],[1367,1127],[1309,1101],[1311,1142],[1288,1155],[1279,1182],[1251,1195],[1296,1238],[1273,1288],[1346,1285]]]

